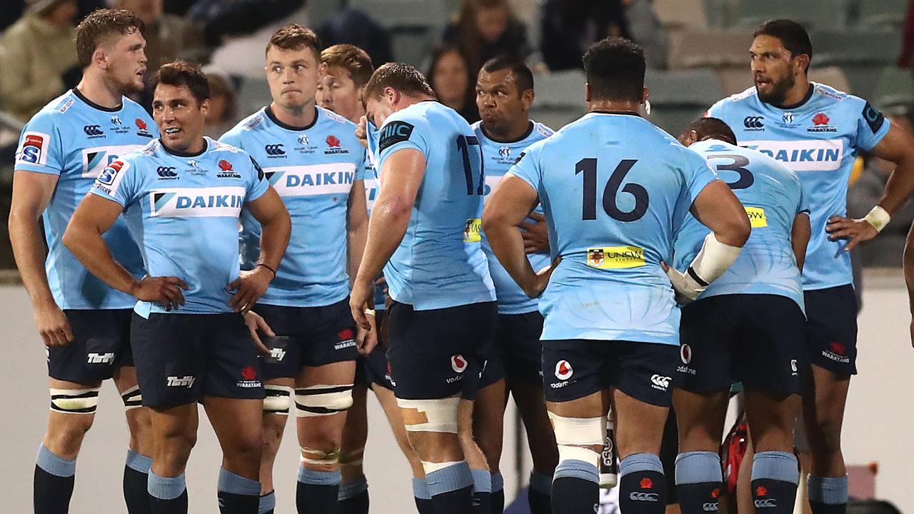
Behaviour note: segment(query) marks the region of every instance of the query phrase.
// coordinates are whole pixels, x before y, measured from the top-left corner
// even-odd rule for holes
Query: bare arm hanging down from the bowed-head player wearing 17
[[[349,308],[356,324],[369,330],[365,310],[375,294],[375,277],[397,250],[409,226],[409,216],[425,177],[425,155],[414,148],[393,152],[384,161],[384,183],[377,193],[368,221],[368,238],[362,262],[349,296]]]

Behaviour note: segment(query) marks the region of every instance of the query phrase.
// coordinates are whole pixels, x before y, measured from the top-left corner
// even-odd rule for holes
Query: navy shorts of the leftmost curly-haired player
[[[122,366],[133,366],[133,309],[67,309],[63,314],[73,340],[62,347],[47,347],[50,378],[90,384],[112,378]]]

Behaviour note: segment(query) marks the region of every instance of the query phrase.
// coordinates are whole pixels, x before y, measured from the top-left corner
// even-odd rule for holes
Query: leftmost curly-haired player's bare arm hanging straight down
[[[9,213],[9,239],[16,267],[35,310],[35,325],[47,346],[73,340],[67,316],[54,301],[45,274],[45,243],[38,219],[48,207],[58,176],[19,170],[13,176],[13,203]]]

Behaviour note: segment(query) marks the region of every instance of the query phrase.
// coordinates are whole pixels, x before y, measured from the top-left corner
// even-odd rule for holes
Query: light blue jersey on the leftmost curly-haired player
[[[142,148],[159,132],[138,103],[122,97],[108,109],[70,90],[37,112],[23,129],[16,151],[16,170],[57,175],[58,183],[42,213],[48,258],[45,271],[54,301],[61,309],[124,309],[136,299],[101,282],[61,241],[73,211],[95,177],[120,155]],[[143,257],[118,218],[102,238],[114,258],[134,276],[143,276]]]

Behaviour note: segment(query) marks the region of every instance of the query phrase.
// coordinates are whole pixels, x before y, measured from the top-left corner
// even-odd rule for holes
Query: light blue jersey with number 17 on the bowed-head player
[[[426,159],[406,235],[384,267],[390,297],[416,310],[494,301],[480,244],[482,152],[470,124],[439,102],[419,102],[388,116],[377,147],[381,187],[390,155],[412,148]]]

